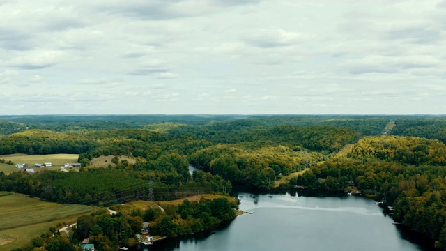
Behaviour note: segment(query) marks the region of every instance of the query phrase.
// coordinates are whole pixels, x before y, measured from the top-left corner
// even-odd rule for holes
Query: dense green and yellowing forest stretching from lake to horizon
[[[436,246],[446,250],[446,119],[443,117],[7,116],[0,119],[5,120],[0,123],[1,155],[77,153],[79,162],[85,166],[79,172],[68,173],[0,172],[0,190],[67,204],[107,206],[130,198],[148,199],[150,188],[154,188],[155,200],[230,192],[233,186],[272,188],[282,176],[301,172],[281,187],[360,190],[364,196],[393,206],[394,220],[437,240]],[[390,122],[394,128],[386,128]],[[102,155],[126,155],[135,162],[117,162],[116,158],[116,167],[89,166],[91,160]],[[201,170],[191,175],[190,164]],[[197,222],[191,222],[199,207],[185,202],[178,207],[184,210],[162,216],[170,219],[170,223],[157,218],[157,224],[183,222],[195,226]],[[208,207],[211,218],[197,226],[207,226],[219,219],[211,209],[213,206]],[[144,218],[144,214],[132,217],[137,216]],[[192,218],[187,221],[189,216]],[[91,222],[99,218],[95,216]],[[183,221],[178,221],[180,218]],[[155,222],[155,218],[152,220]],[[201,228],[186,229],[189,230],[176,234]],[[96,230],[100,232],[98,227]]]

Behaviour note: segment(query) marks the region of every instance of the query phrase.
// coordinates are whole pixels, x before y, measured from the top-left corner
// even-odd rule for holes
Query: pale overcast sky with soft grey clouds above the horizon
[[[446,1],[0,0],[0,114],[446,114]]]

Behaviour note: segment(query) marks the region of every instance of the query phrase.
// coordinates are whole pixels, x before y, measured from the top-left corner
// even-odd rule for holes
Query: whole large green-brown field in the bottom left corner
[[[30,198],[27,195],[0,192],[0,250],[26,245],[57,222],[75,222],[93,207],[63,205]]]

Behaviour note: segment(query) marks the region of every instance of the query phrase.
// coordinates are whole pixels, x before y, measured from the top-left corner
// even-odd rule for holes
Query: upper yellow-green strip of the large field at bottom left
[[[40,222],[49,222],[93,211],[91,206],[64,205],[26,195],[0,197],[0,230],[11,229]]]

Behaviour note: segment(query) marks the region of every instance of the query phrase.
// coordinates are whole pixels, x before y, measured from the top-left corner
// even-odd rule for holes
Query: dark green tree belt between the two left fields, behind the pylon
[[[151,185],[152,177],[152,185]],[[107,206],[130,200],[157,201],[212,193],[231,192],[220,176],[203,171],[184,177],[175,169],[166,172],[134,171],[127,167],[82,169],[80,172],[47,171],[37,174],[0,172],[0,190],[20,192],[64,204]]]

